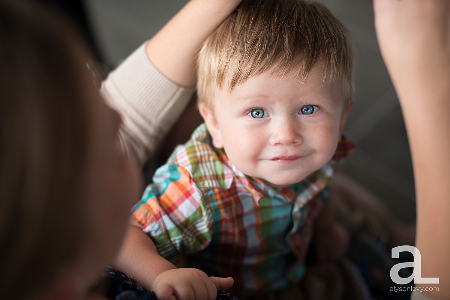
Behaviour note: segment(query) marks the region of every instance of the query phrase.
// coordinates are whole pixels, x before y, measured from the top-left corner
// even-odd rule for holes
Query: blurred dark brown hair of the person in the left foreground
[[[88,71],[67,28],[32,3],[0,1],[4,299],[45,290],[87,234],[82,199],[91,116],[80,78]]]

